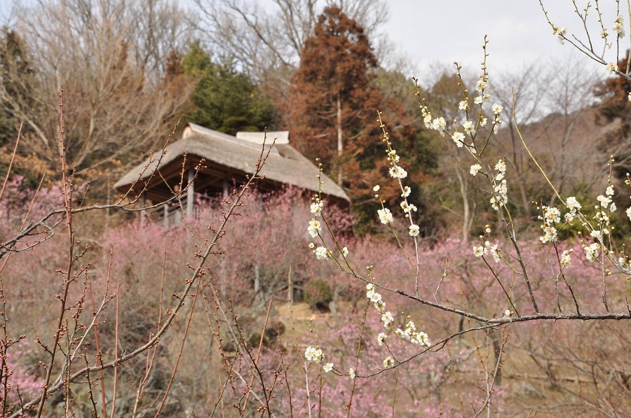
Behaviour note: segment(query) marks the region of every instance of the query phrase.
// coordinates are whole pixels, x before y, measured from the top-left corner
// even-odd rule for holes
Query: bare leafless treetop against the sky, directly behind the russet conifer
[[[285,95],[299,65],[306,39],[318,15],[335,4],[326,0],[273,0],[270,8],[252,0],[195,0],[202,11],[199,29],[218,54],[233,58],[264,83],[266,90]],[[338,6],[364,28],[369,38],[386,20],[381,0],[346,0]]]

